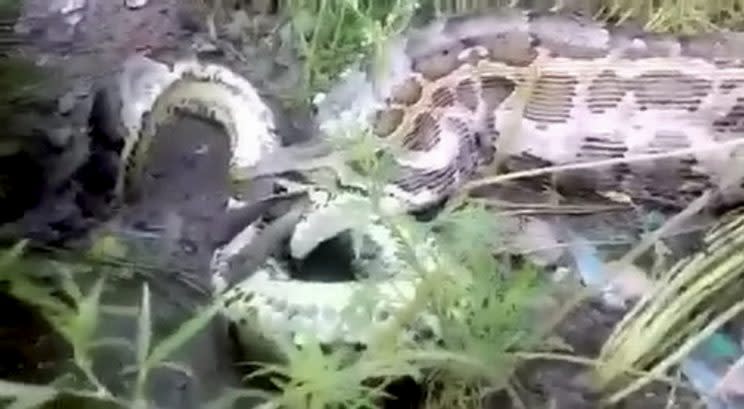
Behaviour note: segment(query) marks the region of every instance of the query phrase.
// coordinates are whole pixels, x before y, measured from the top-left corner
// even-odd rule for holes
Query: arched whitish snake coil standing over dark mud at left
[[[120,80],[125,145],[117,193],[136,194],[150,145],[158,128],[178,114],[191,114],[223,126],[230,141],[230,167],[254,166],[279,146],[271,110],[255,88],[225,67],[181,60],[172,67],[135,56]]]

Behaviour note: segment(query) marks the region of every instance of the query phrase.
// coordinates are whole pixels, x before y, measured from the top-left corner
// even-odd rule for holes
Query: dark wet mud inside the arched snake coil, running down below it
[[[157,237],[144,243],[148,260],[157,266],[148,282],[153,283],[155,332],[160,336],[173,332],[209,300],[213,226],[220,224],[228,198],[228,158],[226,134],[215,125],[184,118],[163,127],[153,144],[142,199],[122,209],[117,220],[121,230]],[[139,293],[137,286],[129,290],[131,295],[115,298],[126,305]],[[174,359],[195,376],[156,374],[153,391],[161,407],[198,408],[203,399],[237,385],[231,348],[220,322],[189,341]]]

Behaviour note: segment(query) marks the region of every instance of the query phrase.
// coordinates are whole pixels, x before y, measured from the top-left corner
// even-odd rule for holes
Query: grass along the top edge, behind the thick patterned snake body
[[[305,59],[306,95],[322,92],[351,64],[381,58],[385,42],[419,11],[451,15],[510,7],[513,0],[285,0]],[[564,1],[555,1],[562,6]],[[744,0],[602,0],[595,17],[614,24],[638,22],[652,32],[694,34],[740,29]]]

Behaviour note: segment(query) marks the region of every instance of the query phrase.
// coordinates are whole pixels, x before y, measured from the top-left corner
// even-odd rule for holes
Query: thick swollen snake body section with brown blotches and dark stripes
[[[676,208],[720,186],[737,160],[740,33],[650,36],[506,11],[452,19],[418,37],[408,44],[411,72],[375,123],[404,148],[395,186],[412,203],[457,190],[494,151],[504,170],[518,171],[688,149],[553,180],[568,195],[620,193]],[[738,200],[741,186],[727,193]]]

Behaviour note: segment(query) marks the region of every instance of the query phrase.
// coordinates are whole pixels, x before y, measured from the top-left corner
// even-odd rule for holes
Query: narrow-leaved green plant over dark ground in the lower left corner
[[[84,292],[78,283],[81,274],[91,272],[89,265],[27,256],[23,254],[25,247],[26,243],[21,242],[2,253],[0,282],[6,285],[5,291],[9,295],[37,308],[54,331],[70,345],[73,368],[49,385],[0,382],[0,396],[13,400],[13,408],[35,408],[64,395],[105,401],[122,408],[146,408],[149,403],[145,385],[153,369],[165,367],[189,373],[188,368],[167,359],[211,320],[218,311],[217,304],[196,313],[175,332],[153,345],[150,291],[144,285],[141,304],[135,312],[138,323],[136,340],[101,337],[99,327],[104,315],[121,314],[121,309],[101,302],[105,279],[95,279]],[[45,280],[40,281],[42,278]],[[47,283],[50,279],[54,284]],[[124,348],[135,356],[132,366],[121,368],[122,377],[134,374],[131,396],[114,394],[94,371],[94,352],[112,347]]]

